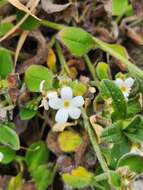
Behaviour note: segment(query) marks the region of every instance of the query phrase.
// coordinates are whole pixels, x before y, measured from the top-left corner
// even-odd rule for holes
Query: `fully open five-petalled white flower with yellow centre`
[[[57,123],[65,123],[68,117],[78,119],[81,114],[80,107],[84,104],[82,96],[73,97],[73,92],[70,87],[63,87],[61,89],[61,98],[55,97],[49,99],[49,106],[55,110],[55,120]]]

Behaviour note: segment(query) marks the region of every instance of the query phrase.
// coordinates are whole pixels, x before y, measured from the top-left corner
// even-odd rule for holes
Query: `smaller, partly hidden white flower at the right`
[[[131,77],[125,80],[122,80],[121,78],[117,78],[115,80],[115,84],[121,89],[125,99],[128,100],[131,88],[134,84],[134,79]]]

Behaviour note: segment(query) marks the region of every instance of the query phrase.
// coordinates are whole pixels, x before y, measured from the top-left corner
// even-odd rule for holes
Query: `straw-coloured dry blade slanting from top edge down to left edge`
[[[12,1],[12,0],[11,0]],[[12,2],[15,2],[14,0]],[[16,1],[17,2],[17,1]],[[2,42],[3,40],[5,40],[7,37],[9,37],[11,34],[13,34],[15,32],[15,30],[17,30],[22,24],[23,22],[29,17],[29,15],[31,15],[31,13],[34,11],[34,9],[37,7],[37,5],[39,4],[40,0],[36,0],[33,1],[31,0],[30,2],[33,2],[33,5],[30,9],[31,12],[26,13],[26,15],[9,31],[7,32],[2,38],[0,38],[0,42]],[[24,5],[23,5],[24,6]],[[25,6],[24,6],[25,7]],[[26,8],[27,9],[27,8]],[[21,10],[21,9],[20,9]]]

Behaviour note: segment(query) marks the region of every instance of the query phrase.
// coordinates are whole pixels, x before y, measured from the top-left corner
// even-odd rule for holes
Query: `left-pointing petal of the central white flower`
[[[58,110],[58,109],[62,108],[63,101],[58,97],[50,98],[49,99],[49,106],[55,110]]]

